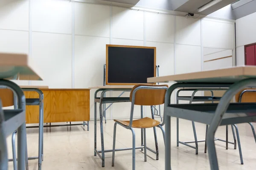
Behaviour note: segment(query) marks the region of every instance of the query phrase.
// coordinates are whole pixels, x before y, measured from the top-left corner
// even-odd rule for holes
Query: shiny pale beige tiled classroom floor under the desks
[[[44,128],[44,161],[43,170],[131,170],[132,152],[116,152],[115,167],[111,167],[112,153],[106,153],[105,167],[101,167],[101,160],[94,156],[94,128],[93,121],[90,122],[90,131],[87,127],[51,127]],[[256,124],[254,124],[256,126]],[[240,164],[239,150],[225,149],[224,142],[215,142],[218,153],[218,163],[221,170],[255,170],[256,169],[256,144],[248,124],[240,124],[239,133],[241,147],[244,157],[244,164]],[[196,123],[198,140],[204,139],[205,125]],[[135,129],[136,144],[140,146],[140,130]],[[147,130],[147,146],[154,149],[153,129]],[[154,153],[148,153],[147,162],[144,161],[143,152],[136,150],[137,170],[164,170],[164,143],[163,136],[157,128],[159,144],[159,160],[155,160]],[[225,139],[225,127],[219,127],[215,137]],[[37,156],[38,152],[38,129],[27,129],[28,154]],[[132,146],[131,131],[117,126],[116,148]],[[108,120],[104,124],[105,149],[112,148],[113,142],[113,121]],[[229,127],[229,139],[233,141],[231,128]],[[7,139],[9,157],[12,156],[11,137]],[[209,170],[208,155],[204,153],[204,142],[199,143],[199,153],[195,150],[181,145],[176,146],[176,118],[172,118],[172,170]],[[192,124],[186,120],[180,120],[180,140],[194,140]],[[100,149],[99,121],[97,122],[97,147]],[[12,169],[12,162],[9,163]],[[29,160],[29,169],[37,170],[37,160]]]

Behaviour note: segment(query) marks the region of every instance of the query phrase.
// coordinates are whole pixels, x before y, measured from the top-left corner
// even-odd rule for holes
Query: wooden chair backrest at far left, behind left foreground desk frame
[[[2,106],[13,106],[13,92],[8,88],[0,88],[0,99],[2,100]]]

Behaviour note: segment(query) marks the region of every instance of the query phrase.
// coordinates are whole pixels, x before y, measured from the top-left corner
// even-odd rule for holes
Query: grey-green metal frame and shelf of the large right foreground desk
[[[248,112],[256,112],[256,103],[230,103],[233,96],[241,89],[255,86],[256,78],[242,79],[236,83],[176,83],[172,85],[165,96],[164,119],[166,129],[165,169],[171,170],[171,122],[170,117],[178,117],[195,122],[208,124],[207,146],[211,170],[218,170],[214,135],[219,125],[256,121],[256,115],[247,116]],[[170,104],[172,92],[177,88],[228,88],[219,103],[204,104]],[[224,114],[226,113],[226,114]]]

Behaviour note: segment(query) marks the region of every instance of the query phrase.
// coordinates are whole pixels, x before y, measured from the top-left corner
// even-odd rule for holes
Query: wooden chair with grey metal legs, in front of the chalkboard
[[[143,148],[144,147],[144,161],[147,161],[147,149],[146,146],[146,128],[153,127],[154,130],[154,140],[155,140],[155,147],[158,160],[158,144],[157,144],[157,133],[156,127],[159,127],[162,130],[163,137],[165,136],[165,132],[163,127],[160,125],[160,122],[154,120],[154,113],[153,113],[153,105],[162,105],[164,103],[164,98],[166,91],[168,89],[168,85],[135,85],[134,88],[131,90],[130,100],[131,100],[131,115],[130,120],[114,120],[114,132],[113,132],[113,154],[112,154],[112,167],[114,166],[115,160],[115,145],[116,145],[116,125],[121,125],[126,129],[131,130],[132,132],[132,169],[135,170],[135,149],[136,148]],[[142,119],[133,120],[133,113],[134,113],[134,105],[144,105],[144,106],[151,106],[151,117],[145,117]],[[143,129],[144,134],[144,146],[142,147],[135,147],[135,132],[133,128],[140,128]],[[151,149],[149,149],[151,150]],[[154,150],[151,150],[154,151]]]

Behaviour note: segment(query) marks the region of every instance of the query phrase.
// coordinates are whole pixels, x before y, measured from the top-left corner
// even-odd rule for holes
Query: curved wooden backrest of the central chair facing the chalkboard
[[[135,88],[140,86],[147,87],[167,87],[168,85],[135,85],[131,89],[130,100],[132,100],[132,94]],[[166,94],[166,89],[139,89],[135,93],[134,105],[152,106],[152,105],[162,105],[164,103],[164,97]]]

